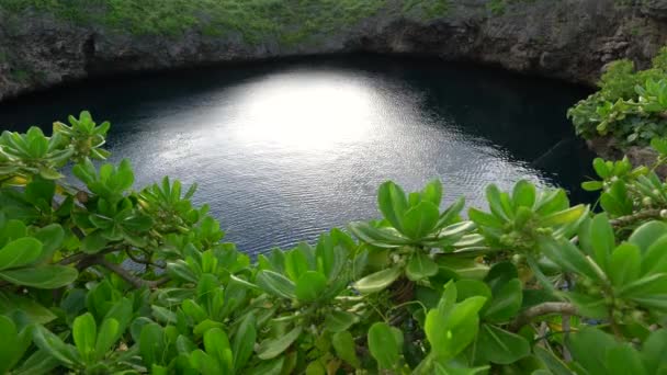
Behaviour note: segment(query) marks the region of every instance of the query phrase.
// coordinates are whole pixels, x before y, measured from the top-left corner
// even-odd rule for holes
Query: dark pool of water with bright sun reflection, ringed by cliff
[[[559,185],[573,201],[591,155],[561,82],[438,60],[312,58],[92,80],[0,105],[2,129],[45,129],[90,110],[112,122],[112,161],[137,186],[197,182],[227,240],[257,253],[377,217],[385,180],[441,179],[446,202],[484,206],[486,184]]]

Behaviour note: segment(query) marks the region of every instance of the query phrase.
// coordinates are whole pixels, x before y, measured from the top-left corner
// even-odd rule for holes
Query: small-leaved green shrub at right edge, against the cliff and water
[[[610,136],[621,148],[667,136],[667,48],[646,70],[636,71],[630,60],[612,63],[599,86],[568,112],[577,134]]]

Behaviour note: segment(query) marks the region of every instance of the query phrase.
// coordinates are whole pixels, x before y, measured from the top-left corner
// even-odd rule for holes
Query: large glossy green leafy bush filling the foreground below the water
[[[0,373],[667,374],[649,168],[596,160],[597,215],[525,181],[466,215],[386,182],[382,219],[253,263],[195,186],[133,190],[91,162],[109,123],[69,121],[0,138]]]

